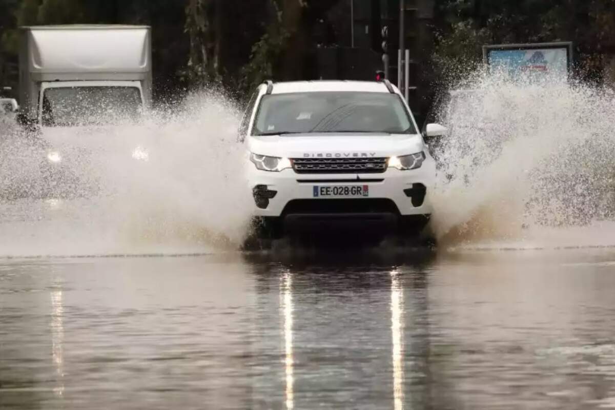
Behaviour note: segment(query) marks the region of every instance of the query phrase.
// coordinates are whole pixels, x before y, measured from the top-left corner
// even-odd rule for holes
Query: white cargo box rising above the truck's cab
[[[148,26],[65,25],[21,28],[20,101],[36,112],[39,84],[50,81],[140,81],[151,101]]]

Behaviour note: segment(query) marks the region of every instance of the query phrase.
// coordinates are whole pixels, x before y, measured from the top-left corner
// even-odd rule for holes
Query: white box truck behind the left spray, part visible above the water
[[[148,26],[21,28],[20,122],[40,127],[108,125],[151,104]]]

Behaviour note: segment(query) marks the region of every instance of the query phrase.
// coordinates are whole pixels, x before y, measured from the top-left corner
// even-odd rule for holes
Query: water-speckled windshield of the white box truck
[[[137,87],[60,87],[46,89],[42,125],[71,127],[134,121],[141,111]]]

